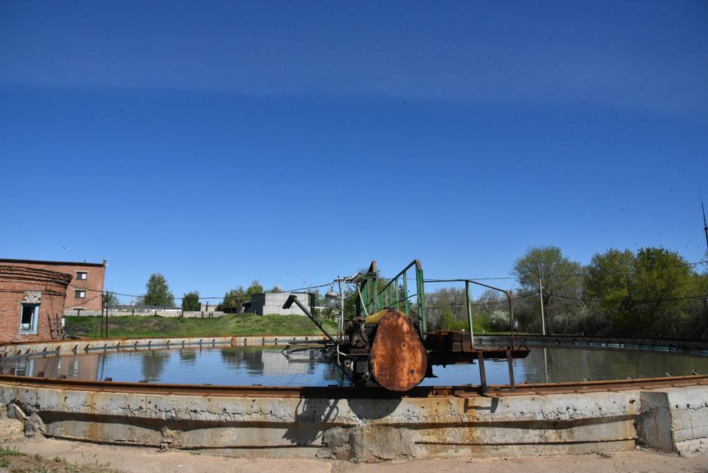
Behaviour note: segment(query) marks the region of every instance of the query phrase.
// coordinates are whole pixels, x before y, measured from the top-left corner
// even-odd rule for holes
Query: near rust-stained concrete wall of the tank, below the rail
[[[685,391],[683,391],[685,390]],[[683,394],[685,393],[685,394]],[[706,387],[507,397],[297,399],[95,392],[0,384],[32,429],[102,443],[341,460],[566,454],[636,443],[706,452]],[[693,407],[669,404],[690,397]],[[663,409],[664,416],[656,416]],[[646,432],[655,435],[646,436]],[[670,448],[668,448],[670,447]]]

